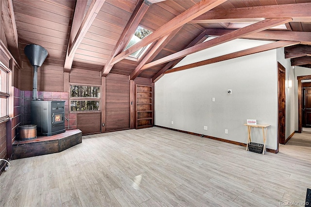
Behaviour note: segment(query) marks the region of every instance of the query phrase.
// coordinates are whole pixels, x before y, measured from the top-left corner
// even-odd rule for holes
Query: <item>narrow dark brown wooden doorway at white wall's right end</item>
[[[279,144],[285,144],[285,68],[277,62],[277,96],[278,96],[278,123],[277,123],[277,151]]]

